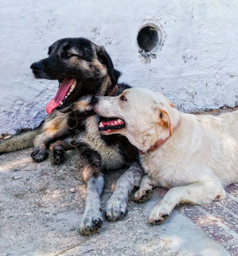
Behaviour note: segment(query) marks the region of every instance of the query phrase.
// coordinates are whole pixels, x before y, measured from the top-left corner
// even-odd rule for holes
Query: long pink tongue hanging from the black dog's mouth
[[[48,114],[50,114],[56,107],[60,105],[60,101],[63,101],[74,80],[74,78],[64,78],[58,89],[56,96],[53,99],[51,99],[48,105],[46,106],[46,112]]]

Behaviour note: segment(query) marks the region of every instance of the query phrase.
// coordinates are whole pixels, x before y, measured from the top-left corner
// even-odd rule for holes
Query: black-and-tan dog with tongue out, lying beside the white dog
[[[82,235],[91,235],[102,225],[99,197],[103,188],[103,169],[129,167],[119,178],[106,204],[106,218],[111,221],[125,216],[129,193],[139,185],[144,174],[138,150],[126,137],[99,134],[98,123],[102,118],[91,106],[93,96],[116,96],[129,85],[117,84],[120,73],[114,69],[109,54],[87,39],[61,39],[49,47],[48,54],[47,58],[31,64],[30,68],[36,78],[60,82],[56,96],[46,107],[50,116],[37,132],[12,137],[1,143],[0,152],[30,146],[32,137],[39,134],[34,140],[32,158],[44,160],[48,156],[47,147],[54,142],[50,145],[50,158],[53,163],[59,163],[64,159],[64,150],[76,146],[84,165],[83,178],[88,185],[79,231]],[[105,124],[122,128],[120,120],[108,119]],[[27,141],[25,145],[22,138]]]

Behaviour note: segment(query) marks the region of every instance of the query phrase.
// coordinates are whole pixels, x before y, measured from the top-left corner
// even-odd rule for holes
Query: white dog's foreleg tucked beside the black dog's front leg
[[[156,186],[158,186],[158,183],[149,175],[145,175],[140,182],[139,190],[135,193],[134,201],[138,203],[147,201],[152,195],[153,188]]]

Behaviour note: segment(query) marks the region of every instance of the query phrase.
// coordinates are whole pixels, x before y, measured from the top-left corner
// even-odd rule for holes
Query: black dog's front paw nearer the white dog
[[[117,221],[127,214],[127,200],[123,198],[111,197],[105,207],[106,219]]]

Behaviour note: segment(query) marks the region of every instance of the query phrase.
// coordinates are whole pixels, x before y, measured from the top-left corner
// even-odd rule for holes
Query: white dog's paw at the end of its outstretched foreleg
[[[158,204],[149,215],[149,223],[152,225],[160,225],[169,218],[170,214],[171,209],[167,203]]]

